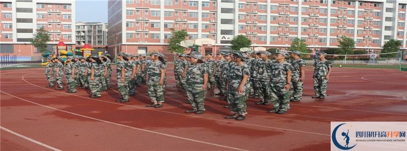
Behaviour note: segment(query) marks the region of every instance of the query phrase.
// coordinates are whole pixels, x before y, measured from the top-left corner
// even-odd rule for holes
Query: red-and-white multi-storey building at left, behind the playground
[[[0,54],[40,56],[30,43],[39,28],[48,30],[52,45],[75,44],[74,0],[0,0]]]

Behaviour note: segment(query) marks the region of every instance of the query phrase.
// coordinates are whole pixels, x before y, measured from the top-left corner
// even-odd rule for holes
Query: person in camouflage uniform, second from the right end
[[[291,65],[293,71],[291,73],[292,86],[289,89],[289,100],[293,102],[301,101],[302,90],[304,87],[305,79],[305,61],[300,58],[301,53],[299,51],[293,51],[290,56],[293,58]]]

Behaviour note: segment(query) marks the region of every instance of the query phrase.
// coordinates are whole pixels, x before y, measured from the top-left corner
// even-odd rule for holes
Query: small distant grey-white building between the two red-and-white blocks
[[[77,22],[75,24],[76,45],[89,44],[92,47],[107,45],[107,23]]]

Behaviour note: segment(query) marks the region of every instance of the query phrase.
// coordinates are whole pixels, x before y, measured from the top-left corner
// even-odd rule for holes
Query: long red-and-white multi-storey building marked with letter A
[[[379,52],[390,39],[405,48],[405,7],[405,1],[395,0],[109,1],[108,38],[117,39],[109,50],[119,45],[122,52],[168,53],[174,28],[186,29],[190,40],[214,39],[212,52],[229,49],[239,34],[249,37],[252,47],[281,50],[299,37],[313,51],[336,48],[345,35],[357,42],[356,49]]]

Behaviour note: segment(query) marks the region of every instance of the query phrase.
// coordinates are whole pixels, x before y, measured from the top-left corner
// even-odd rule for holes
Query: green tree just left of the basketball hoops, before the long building
[[[172,36],[168,42],[169,43],[168,50],[170,52],[184,53],[185,48],[180,46],[180,43],[187,39],[187,36],[188,36],[187,30],[185,30],[185,29],[184,30],[175,30],[175,29],[171,28],[171,33],[172,33]]]

